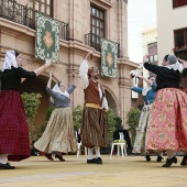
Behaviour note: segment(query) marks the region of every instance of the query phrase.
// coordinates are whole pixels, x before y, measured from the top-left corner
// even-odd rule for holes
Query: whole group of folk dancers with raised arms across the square
[[[100,73],[97,67],[89,67],[92,53],[88,53],[80,64],[79,78],[85,94],[81,124],[81,143],[88,148],[87,164],[102,164],[100,147],[107,143],[107,124],[105,113],[108,101],[105,88],[98,82]],[[162,153],[167,152],[167,161],[163,167],[177,163],[176,152],[183,151],[185,156],[180,165],[187,165],[187,94],[180,89],[180,73],[187,75],[187,62],[174,55],[167,55],[163,66],[152,65],[144,56],[144,67],[156,74],[155,77],[143,78],[150,86],[146,89],[132,88],[141,92],[145,105],[139,123],[134,152],[145,152],[146,161],[150,153],[158,153],[157,162],[163,160]],[[180,63],[180,64],[179,64]],[[22,68],[21,54],[8,51],[0,72],[0,168],[13,169],[8,161],[22,161],[30,157],[29,128],[23,102],[19,94],[21,78],[35,78],[52,65],[51,61],[34,72]],[[183,67],[182,67],[183,65]],[[73,74],[75,80],[77,76]],[[62,153],[76,152],[77,144],[70,110],[70,94],[76,89],[76,81],[69,88],[57,82],[51,88],[53,73],[46,91],[55,106],[43,135],[34,143],[36,150],[45,152],[47,160],[64,162]],[[94,148],[96,157],[94,157]]]

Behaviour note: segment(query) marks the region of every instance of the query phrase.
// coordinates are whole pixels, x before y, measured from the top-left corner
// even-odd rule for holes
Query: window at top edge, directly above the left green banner
[[[53,0],[33,0],[32,7],[34,11],[53,16]]]

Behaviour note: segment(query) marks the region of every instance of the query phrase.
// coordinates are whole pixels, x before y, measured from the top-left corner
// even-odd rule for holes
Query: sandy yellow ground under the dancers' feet
[[[156,156],[103,155],[103,165],[86,164],[86,156],[65,155],[66,162],[33,156],[11,163],[15,169],[0,169],[0,187],[187,187],[187,167],[178,163],[163,168]]]

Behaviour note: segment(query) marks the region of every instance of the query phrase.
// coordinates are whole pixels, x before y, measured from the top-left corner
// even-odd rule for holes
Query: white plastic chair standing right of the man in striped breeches
[[[119,132],[119,134],[120,134],[120,140],[124,140],[123,133]],[[127,143],[125,142],[123,142],[123,143],[114,143],[113,142],[112,147],[111,147],[111,152],[110,152],[110,157],[112,157],[114,145],[117,145],[117,147],[118,147],[118,156],[120,155],[120,147],[121,147],[122,157],[124,157],[124,155],[128,156],[128,154],[127,154]]]

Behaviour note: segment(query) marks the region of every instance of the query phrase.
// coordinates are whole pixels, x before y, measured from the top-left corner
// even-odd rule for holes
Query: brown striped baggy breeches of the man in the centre
[[[105,112],[101,109],[85,107],[81,124],[81,143],[86,147],[106,146],[107,123]]]

